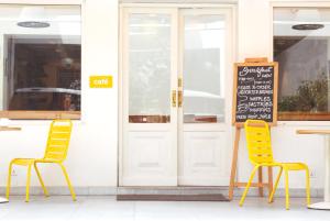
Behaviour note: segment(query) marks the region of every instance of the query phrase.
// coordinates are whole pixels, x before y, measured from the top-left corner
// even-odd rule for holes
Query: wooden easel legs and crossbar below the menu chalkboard
[[[245,187],[246,183],[238,183],[235,181],[237,169],[238,169],[238,157],[239,157],[239,145],[240,145],[240,136],[241,136],[241,128],[235,128],[235,140],[233,146],[232,162],[231,162],[231,173],[230,173],[230,184],[229,184],[229,200],[233,199],[233,191],[235,187]],[[258,168],[258,179],[257,183],[251,184],[251,187],[258,188],[260,197],[264,196],[264,187],[268,188],[268,195],[271,195],[273,190],[273,168],[267,167],[268,169],[268,181],[266,184],[263,183],[263,169]]]

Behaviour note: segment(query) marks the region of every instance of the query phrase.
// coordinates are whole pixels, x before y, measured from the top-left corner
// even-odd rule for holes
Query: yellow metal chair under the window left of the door
[[[25,201],[29,202],[29,190],[30,190],[30,180],[31,180],[31,167],[34,166],[37,178],[43,187],[44,195],[48,197],[48,191],[43,183],[41,174],[37,169],[38,163],[54,163],[58,164],[64,173],[65,179],[67,181],[68,188],[70,190],[72,197],[76,200],[76,194],[72,187],[69,177],[66,173],[66,169],[63,165],[63,162],[66,158],[70,134],[72,134],[73,123],[70,120],[54,120],[51,124],[47,146],[43,158],[14,158],[11,161],[8,173],[8,184],[6,197],[9,199],[10,194],[10,183],[11,183],[11,172],[12,165],[28,166],[28,180],[26,180],[26,196]]]

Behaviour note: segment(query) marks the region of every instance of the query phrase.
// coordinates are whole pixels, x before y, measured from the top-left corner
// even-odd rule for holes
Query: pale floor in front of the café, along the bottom
[[[208,220],[257,220],[257,221],[329,221],[330,211],[309,210],[300,198],[292,199],[292,209],[285,210],[284,199],[268,205],[266,199],[248,198],[244,207],[232,202],[166,202],[166,201],[116,201],[114,197],[13,197],[9,203],[0,205],[0,221],[208,221]],[[314,199],[319,201],[318,199]]]

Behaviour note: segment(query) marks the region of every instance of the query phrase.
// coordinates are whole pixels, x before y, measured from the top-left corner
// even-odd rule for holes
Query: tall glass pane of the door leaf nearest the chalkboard
[[[184,122],[223,122],[224,16],[186,15],[184,22]]]

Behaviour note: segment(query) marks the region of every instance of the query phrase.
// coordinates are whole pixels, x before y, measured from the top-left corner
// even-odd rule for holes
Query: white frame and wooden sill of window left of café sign
[[[81,38],[81,91],[82,91],[82,73],[84,73],[84,62],[85,60],[85,4],[86,0],[0,0],[1,5],[76,5],[80,7],[80,38]],[[80,102],[82,101],[82,93]],[[82,106],[80,106],[82,107]],[[54,120],[54,119],[70,119],[80,120],[80,111],[47,111],[47,110],[0,110],[0,118],[8,118],[13,120]]]

